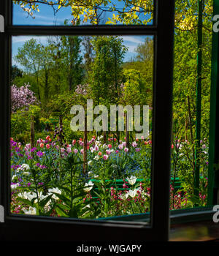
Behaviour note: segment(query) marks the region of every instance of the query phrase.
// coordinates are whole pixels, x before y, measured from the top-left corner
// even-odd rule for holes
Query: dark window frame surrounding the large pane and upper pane
[[[168,15],[165,15],[168,13]],[[155,1],[150,26],[14,26],[12,0],[1,0],[4,33],[0,33],[1,173],[0,204],[4,224],[0,237],[16,241],[168,241],[172,136],[174,0]],[[89,220],[10,214],[10,67],[12,36],[18,35],[153,35],[153,147],[150,225],[146,222]],[[165,106],[165,107],[164,107]],[[162,143],[161,143],[162,140]],[[89,229],[89,230],[88,230]],[[58,231],[58,232],[57,232]],[[89,232],[88,232],[89,231]],[[95,234],[95,235],[94,235]]]

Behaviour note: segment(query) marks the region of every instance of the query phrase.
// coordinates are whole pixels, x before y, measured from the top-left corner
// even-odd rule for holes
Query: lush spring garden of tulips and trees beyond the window
[[[171,210],[207,206],[212,2],[205,1],[203,10],[198,139],[197,8],[196,1],[176,1]],[[116,17],[109,23],[116,24],[119,18],[137,23],[131,16]],[[80,18],[75,20],[74,26],[82,24]],[[65,20],[64,25],[72,23]],[[12,37],[11,213],[83,219],[149,213],[153,36],[28,37],[16,49],[18,39]],[[134,42],[134,49],[128,42]],[[134,54],[128,55],[131,49]],[[106,114],[101,110],[92,113],[101,129],[88,129],[85,119],[83,129],[73,130],[72,107],[80,105],[88,113],[91,99],[93,108],[139,106],[140,127],[147,105],[147,135],[137,138],[141,131],[128,129],[128,111],[123,112],[124,129],[119,129],[118,116],[115,129],[110,129],[112,115],[104,122]],[[80,123],[78,118],[78,127]]]

